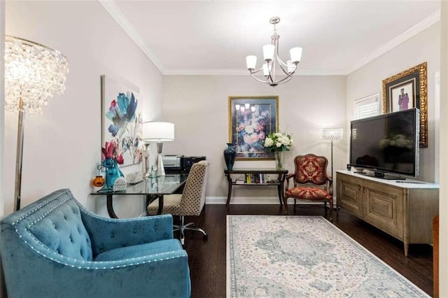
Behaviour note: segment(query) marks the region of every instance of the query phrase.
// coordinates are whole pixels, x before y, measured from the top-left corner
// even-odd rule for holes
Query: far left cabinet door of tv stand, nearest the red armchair
[[[363,218],[362,181],[344,174],[337,174],[337,204]]]

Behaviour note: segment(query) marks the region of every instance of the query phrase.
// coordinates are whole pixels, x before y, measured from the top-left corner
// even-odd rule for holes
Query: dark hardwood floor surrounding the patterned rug
[[[225,297],[226,275],[226,215],[284,215],[279,205],[206,205],[199,218],[187,217],[186,222],[195,222],[204,229],[209,238],[202,239],[199,232],[186,232],[186,250],[190,264],[191,297]],[[323,207],[297,205],[288,206],[288,215],[323,215]],[[427,244],[409,246],[405,257],[403,243],[359,220],[341,209],[339,216],[333,213],[333,224],[386,262],[395,271],[405,276],[428,295],[433,296],[433,248]]]

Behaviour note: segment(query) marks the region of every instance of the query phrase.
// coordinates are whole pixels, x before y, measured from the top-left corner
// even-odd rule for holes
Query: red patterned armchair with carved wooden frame
[[[327,175],[328,159],[314,154],[298,155],[294,159],[294,164],[295,172],[286,176],[286,192],[283,197],[286,212],[288,212],[287,202],[289,198],[294,199],[294,211],[297,200],[322,201],[325,216],[327,203],[330,204],[328,218],[332,220],[332,178]]]

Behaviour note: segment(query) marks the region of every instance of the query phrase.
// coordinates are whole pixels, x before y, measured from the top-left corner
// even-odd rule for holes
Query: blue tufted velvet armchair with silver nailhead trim
[[[117,220],[57,190],[0,222],[8,297],[189,297],[172,215]]]

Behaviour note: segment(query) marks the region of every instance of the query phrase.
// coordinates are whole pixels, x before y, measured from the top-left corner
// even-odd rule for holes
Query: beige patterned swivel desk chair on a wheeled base
[[[193,227],[194,222],[185,223],[185,216],[199,216],[204,208],[208,176],[209,162],[207,160],[197,162],[191,166],[182,194],[164,196],[162,214],[172,214],[181,218],[180,225],[174,225],[174,231],[180,231],[182,245],[185,244],[185,230],[201,232],[204,239],[208,237],[203,229]],[[147,210],[148,214],[156,214],[158,201],[149,204]]]

